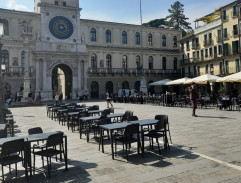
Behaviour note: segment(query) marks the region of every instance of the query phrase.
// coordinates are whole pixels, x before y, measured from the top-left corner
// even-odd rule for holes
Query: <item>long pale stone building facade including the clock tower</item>
[[[148,83],[175,78],[180,73],[177,61],[181,31],[83,20],[79,19],[78,0],[57,2],[58,5],[54,0],[35,0],[34,13],[0,9],[0,21],[8,22],[1,42],[7,63],[5,82],[10,84],[12,95],[25,86],[25,92],[41,91],[46,100],[52,99],[55,67],[65,70],[69,78],[66,87],[72,98],[85,90],[93,98],[103,98],[106,90],[115,93],[127,87],[123,82],[128,82],[130,89],[138,87],[141,75]],[[70,33],[62,27],[63,20],[69,22]],[[55,32],[60,37],[51,26],[59,28]],[[91,33],[93,29],[95,35]],[[29,35],[28,40],[23,35]]]

